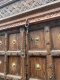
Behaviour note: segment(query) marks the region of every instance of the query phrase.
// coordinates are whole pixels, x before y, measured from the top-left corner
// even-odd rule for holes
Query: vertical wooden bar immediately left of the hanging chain
[[[21,36],[21,76],[22,80],[26,80],[25,76],[25,29],[20,28],[20,36]]]

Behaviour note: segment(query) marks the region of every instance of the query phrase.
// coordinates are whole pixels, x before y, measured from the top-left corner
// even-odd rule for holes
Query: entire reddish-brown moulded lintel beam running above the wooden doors
[[[57,7],[55,9],[50,9],[45,12],[37,12],[37,13],[29,14],[26,17],[22,17],[22,18],[19,17],[16,20],[13,20],[11,18],[12,19],[11,21],[8,20],[9,22],[5,22],[5,23],[3,23],[4,21],[2,21],[2,23],[0,22],[0,30],[15,27],[15,26],[25,25],[26,19],[28,19],[29,24],[31,24],[31,23],[49,21],[56,18],[60,18],[60,7]]]

